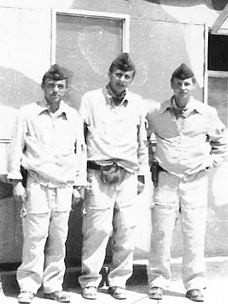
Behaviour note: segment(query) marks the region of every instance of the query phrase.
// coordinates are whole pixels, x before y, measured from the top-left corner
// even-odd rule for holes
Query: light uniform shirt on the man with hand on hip
[[[152,103],[147,113],[148,136],[156,136],[159,165],[186,177],[220,163],[227,154],[227,130],[216,109],[191,97],[176,118],[173,99]]]

